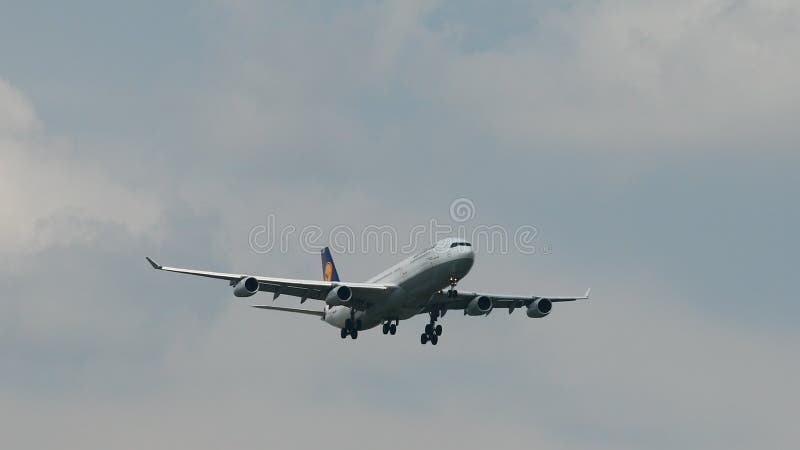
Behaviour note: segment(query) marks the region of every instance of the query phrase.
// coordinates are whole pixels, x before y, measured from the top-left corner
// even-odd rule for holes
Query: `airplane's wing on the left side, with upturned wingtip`
[[[258,281],[258,290],[263,292],[272,292],[273,300],[278,298],[279,295],[291,295],[300,297],[300,303],[306,299],[312,300],[325,300],[328,293],[337,286],[347,286],[353,291],[353,305],[356,309],[363,309],[367,305],[378,303],[387,298],[392,289],[396,286],[391,284],[375,284],[375,283],[349,283],[345,281],[319,281],[319,280],[299,280],[291,278],[276,278],[276,277],[263,277],[247,274],[236,273],[223,273],[223,272],[208,272],[204,270],[182,269],[180,267],[168,267],[157,264],[150,258],[146,258],[156,270],[163,270],[165,272],[183,273],[186,275],[195,275],[198,277],[215,278],[218,280],[225,280],[231,286],[235,286],[239,281],[253,277]]]

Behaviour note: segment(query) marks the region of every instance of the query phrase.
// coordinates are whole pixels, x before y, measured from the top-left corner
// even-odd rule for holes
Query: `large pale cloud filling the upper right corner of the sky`
[[[485,51],[429,34],[408,72],[448,112],[516,145],[715,152],[795,135],[800,65],[786,55],[800,50],[798,17],[791,2],[577,2]]]

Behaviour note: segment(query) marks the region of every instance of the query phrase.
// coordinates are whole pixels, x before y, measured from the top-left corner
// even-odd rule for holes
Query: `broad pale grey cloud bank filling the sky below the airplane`
[[[523,271],[507,274],[520,280],[508,289],[528,287]],[[676,293],[656,279],[625,275],[612,272],[596,300],[559,305],[544,320],[449,314],[435,350],[417,342],[422,319],[402,322],[395,337],[366,333],[354,343],[313,319],[259,314],[246,302],[210,323],[187,327],[192,319],[176,316],[167,323],[184,332],[151,344],[167,347],[158,369],[129,369],[145,377],[144,390],[110,364],[92,366],[100,373],[89,396],[5,392],[6,423],[20,423],[9,438],[31,447],[112,439],[123,448],[344,448],[342,425],[355,420],[361,439],[395,434],[386,448],[497,439],[506,448],[752,448],[796,439],[787,421],[800,368],[789,336],[705,316],[688,300],[670,301]],[[109,385],[116,389],[105,392]],[[49,433],[29,436],[42,420]],[[82,432],[85,423],[100,425]]]

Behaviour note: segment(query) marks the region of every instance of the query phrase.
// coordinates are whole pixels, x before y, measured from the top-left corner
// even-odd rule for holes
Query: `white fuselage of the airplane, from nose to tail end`
[[[467,275],[475,261],[472,247],[451,247],[455,239],[443,239],[435,246],[404,259],[367,280],[367,283],[394,284],[398,289],[388,301],[370,306],[366,311],[356,311],[361,329],[373,328],[387,320],[405,320],[422,312],[433,294],[449,288],[451,276],[461,279]],[[348,306],[325,307],[324,320],[344,328],[350,318]]]

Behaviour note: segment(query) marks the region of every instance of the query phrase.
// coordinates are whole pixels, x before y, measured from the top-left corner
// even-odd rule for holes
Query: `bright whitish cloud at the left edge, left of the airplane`
[[[115,180],[114,170],[124,168],[108,170],[91,160],[76,159],[72,144],[41,128],[30,101],[0,80],[4,252],[31,254],[55,244],[91,240],[95,222],[138,233],[157,222],[158,199],[143,188]]]

